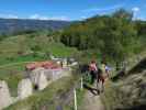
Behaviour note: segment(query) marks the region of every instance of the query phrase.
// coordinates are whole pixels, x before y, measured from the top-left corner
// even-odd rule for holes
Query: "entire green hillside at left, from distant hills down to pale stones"
[[[38,45],[38,53],[32,54],[31,47]],[[58,57],[70,56],[77,52],[60,43],[49,41],[44,34],[11,36],[0,42],[0,79],[5,80],[12,96],[16,96],[18,82],[23,78],[26,62],[46,61],[44,53],[50,52]]]

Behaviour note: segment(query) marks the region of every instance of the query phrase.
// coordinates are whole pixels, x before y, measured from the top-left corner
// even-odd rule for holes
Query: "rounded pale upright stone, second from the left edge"
[[[27,98],[32,94],[33,94],[32,81],[29,78],[27,79],[22,79],[19,82],[19,86],[18,86],[18,97],[19,97],[19,99]]]

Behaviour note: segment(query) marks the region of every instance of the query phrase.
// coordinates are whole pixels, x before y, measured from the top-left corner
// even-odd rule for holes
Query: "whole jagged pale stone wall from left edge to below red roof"
[[[0,80],[0,110],[16,102],[23,100],[31,95],[34,90],[43,90],[53,81],[68,76],[71,70],[69,68],[64,69],[44,69],[37,68],[29,74],[29,78],[22,79],[18,85],[18,97],[12,98],[9,91],[9,87],[5,81]],[[37,87],[34,88],[34,87]]]

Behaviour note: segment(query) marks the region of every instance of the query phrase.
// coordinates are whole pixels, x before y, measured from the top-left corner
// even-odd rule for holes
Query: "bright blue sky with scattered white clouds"
[[[146,0],[0,0],[0,18],[82,20],[124,8],[146,20]]]

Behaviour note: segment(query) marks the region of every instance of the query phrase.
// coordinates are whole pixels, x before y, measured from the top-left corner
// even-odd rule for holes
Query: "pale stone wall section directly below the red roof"
[[[35,85],[35,89],[43,90],[50,82],[70,74],[69,68],[45,69],[43,67],[36,68],[30,73],[30,78]]]

